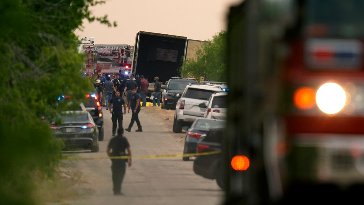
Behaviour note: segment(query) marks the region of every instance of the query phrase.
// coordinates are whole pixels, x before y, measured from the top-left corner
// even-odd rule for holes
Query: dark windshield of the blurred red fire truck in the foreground
[[[364,37],[363,8],[362,0],[308,0],[306,31],[322,37]]]

